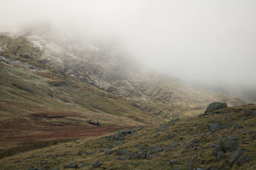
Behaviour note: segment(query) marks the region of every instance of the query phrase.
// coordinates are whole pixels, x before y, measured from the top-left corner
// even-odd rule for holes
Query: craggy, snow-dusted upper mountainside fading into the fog
[[[196,115],[214,101],[229,106],[244,104],[236,97],[202,90],[177,78],[145,71],[109,45],[3,34],[0,49],[3,53],[50,66],[77,82],[89,83],[109,96],[129,101],[133,108],[166,120]]]

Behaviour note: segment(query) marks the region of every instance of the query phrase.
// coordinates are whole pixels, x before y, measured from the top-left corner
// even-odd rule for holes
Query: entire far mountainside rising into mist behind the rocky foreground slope
[[[3,33],[0,60],[2,150],[20,142],[161,124],[198,115],[214,101],[244,104],[145,71],[111,45]],[[90,119],[101,126],[87,124]]]

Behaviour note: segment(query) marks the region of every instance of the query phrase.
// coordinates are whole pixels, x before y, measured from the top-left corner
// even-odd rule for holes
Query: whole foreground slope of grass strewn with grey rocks
[[[256,106],[19,153],[2,169],[255,169]]]

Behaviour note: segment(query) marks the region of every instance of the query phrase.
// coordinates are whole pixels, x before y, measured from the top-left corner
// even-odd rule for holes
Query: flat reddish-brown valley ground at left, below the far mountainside
[[[102,136],[118,129],[131,128],[120,126],[97,127],[81,122],[65,124],[65,121],[67,121],[65,118],[70,116],[74,117],[77,115],[35,113],[29,115],[29,117],[16,117],[13,120],[0,122],[0,147],[17,145],[17,143],[21,142],[42,141],[45,139]],[[38,120],[38,118],[43,118],[43,120]]]

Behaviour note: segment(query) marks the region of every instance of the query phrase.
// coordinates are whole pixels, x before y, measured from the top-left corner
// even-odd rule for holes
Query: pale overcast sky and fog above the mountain
[[[145,66],[200,83],[256,86],[256,1],[0,0],[0,30],[50,22],[122,42]]]

